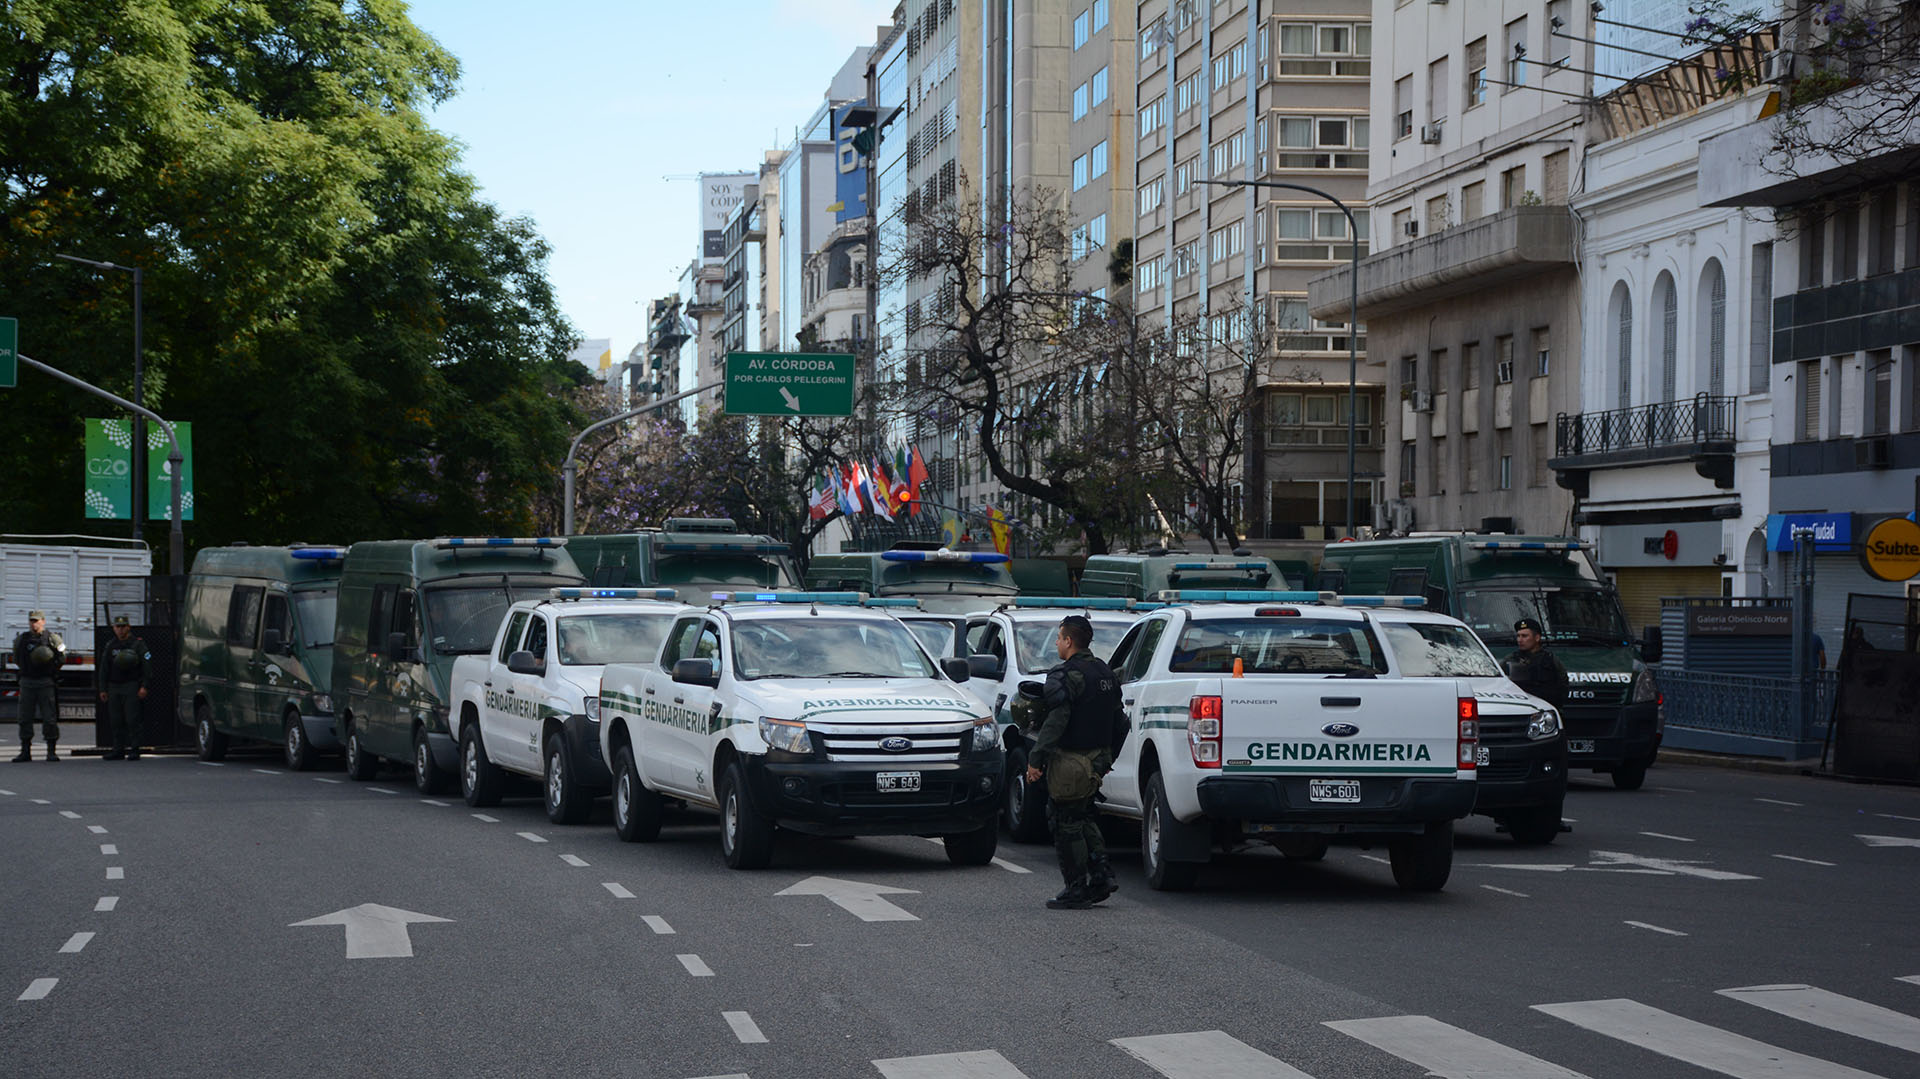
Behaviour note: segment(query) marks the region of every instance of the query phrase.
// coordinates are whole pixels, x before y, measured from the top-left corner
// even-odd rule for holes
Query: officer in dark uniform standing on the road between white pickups
[[[1127,741],[1127,712],[1119,707],[1119,678],[1089,645],[1092,622],[1068,614],[1054,635],[1062,662],[1046,672],[1039,703],[1046,718],[1027,755],[1027,781],[1046,776],[1046,818],[1068,885],[1046,900],[1054,910],[1085,910],[1119,889],[1092,804]]]

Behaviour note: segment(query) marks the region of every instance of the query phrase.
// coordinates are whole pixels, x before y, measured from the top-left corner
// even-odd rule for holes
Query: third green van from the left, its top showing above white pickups
[[[714,591],[801,586],[785,543],[741,532],[728,516],[670,516],[643,532],[568,536],[566,551],[595,587],[672,587],[695,605]]]

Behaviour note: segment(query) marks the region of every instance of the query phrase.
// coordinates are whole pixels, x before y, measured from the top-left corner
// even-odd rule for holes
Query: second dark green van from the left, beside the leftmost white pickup
[[[334,699],[348,778],[407,760],[422,795],[449,787],[453,659],[493,645],[515,599],[586,584],[559,538],[380,540],[348,549]]]

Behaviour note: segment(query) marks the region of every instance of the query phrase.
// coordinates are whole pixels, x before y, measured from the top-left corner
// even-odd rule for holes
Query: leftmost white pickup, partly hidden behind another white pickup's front
[[[601,756],[601,668],[659,655],[670,587],[555,587],[507,609],[493,647],[453,660],[461,795],[499,804],[507,774],[545,787],[547,818],[580,824],[612,778]]]

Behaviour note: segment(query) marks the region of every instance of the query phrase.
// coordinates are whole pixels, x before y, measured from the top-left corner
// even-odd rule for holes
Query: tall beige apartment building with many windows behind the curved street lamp
[[[1298,0],[1286,13],[1258,0],[1144,0],[1133,12],[1133,301],[1162,319],[1246,313],[1236,324],[1261,334],[1242,349],[1258,355],[1260,386],[1240,499],[1254,538],[1344,532],[1354,330],[1344,305],[1309,317],[1308,294],[1352,259],[1356,236],[1317,194],[1202,180],[1327,192],[1354,207],[1365,252],[1375,17],[1367,0]],[[1365,526],[1380,470],[1380,372],[1357,374],[1354,495]]]

